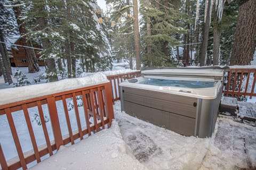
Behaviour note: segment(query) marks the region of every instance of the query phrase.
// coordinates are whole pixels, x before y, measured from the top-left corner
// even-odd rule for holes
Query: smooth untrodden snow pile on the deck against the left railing
[[[118,124],[70,147],[60,147],[50,158],[31,169],[148,169],[126,154]]]

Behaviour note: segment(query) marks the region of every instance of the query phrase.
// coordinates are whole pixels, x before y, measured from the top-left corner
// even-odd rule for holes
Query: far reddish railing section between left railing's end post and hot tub
[[[121,83],[122,81],[127,80],[127,79],[140,77],[140,75],[141,75],[140,71],[136,71],[136,72],[107,76],[108,80],[111,83],[113,103],[114,103],[114,101],[120,100],[119,83]]]

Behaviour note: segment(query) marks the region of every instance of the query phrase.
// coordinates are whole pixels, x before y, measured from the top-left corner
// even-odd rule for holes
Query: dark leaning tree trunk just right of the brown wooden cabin
[[[16,5],[18,5],[18,4],[20,4],[19,1],[16,3]],[[31,41],[30,40],[28,41],[27,38],[25,38],[25,35],[27,34],[27,30],[26,30],[25,22],[20,20],[21,7],[20,6],[15,6],[15,7],[13,7],[13,10],[15,12],[17,23],[19,25],[19,32],[20,32],[20,35],[21,35],[22,45],[27,46],[27,47],[33,47]],[[25,55],[26,55],[26,61],[28,63],[28,72],[29,73],[38,72],[39,71],[39,65],[38,65],[38,61],[37,61],[34,49],[25,47],[24,50],[25,50]]]

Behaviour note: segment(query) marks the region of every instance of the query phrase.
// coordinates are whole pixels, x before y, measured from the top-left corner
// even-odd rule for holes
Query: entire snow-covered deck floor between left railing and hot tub
[[[211,138],[185,137],[114,105],[116,122],[32,169],[253,169],[256,127],[218,117]],[[101,140],[99,140],[101,139]]]

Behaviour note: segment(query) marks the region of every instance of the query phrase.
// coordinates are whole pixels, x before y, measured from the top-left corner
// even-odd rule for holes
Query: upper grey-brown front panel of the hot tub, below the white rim
[[[164,92],[122,87],[124,101],[156,108],[161,111],[195,118],[197,98],[166,94]]]

